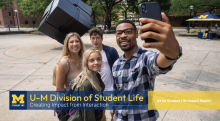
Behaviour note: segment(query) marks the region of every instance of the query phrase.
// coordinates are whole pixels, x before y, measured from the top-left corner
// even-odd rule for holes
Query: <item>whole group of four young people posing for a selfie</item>
[[[116,26],[116,42],[124,51],[119,57],[115,48],[102,44],[103,32],[99,28],[89,31],[93,48],[85,45],[77,33],[69,33],[64,40],[63,54],[59,61],[56,90],[70,88],[74,91],[153,91],[155,77],[172,69],[182,55],[169,20],[164,13],[163,21],[142,18],[149,23],[137,31],[130,20],[122,20]],[[154,30],[154,32],[146,32]],[[156,48],[153,52],[138,47],[138,33],[141,39],[153,38],[155,43],[144,43],[144,48]],[[114,121],[155,121],[156,110],[110,111]],[[106,121],[105,111],[77,110],[68,121]]]

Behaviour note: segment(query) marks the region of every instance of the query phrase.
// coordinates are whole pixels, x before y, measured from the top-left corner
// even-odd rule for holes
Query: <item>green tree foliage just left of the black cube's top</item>
[[[52,0],[15,0],[18,9],[22,11],[24,16],[32,15],[35,21],[39,16],[43,15],[51,1]]]

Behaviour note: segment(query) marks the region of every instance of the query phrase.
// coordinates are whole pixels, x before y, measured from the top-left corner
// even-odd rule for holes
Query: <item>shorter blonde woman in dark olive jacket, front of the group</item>
[[[102,56],[94,48],[83,54],[82,73],[71,81],[68,89],[74,91],[103,91],[105,88],[101,76],[97,73],[102,66]],[[76,110],[68,121],[101,121],[103,110]]]

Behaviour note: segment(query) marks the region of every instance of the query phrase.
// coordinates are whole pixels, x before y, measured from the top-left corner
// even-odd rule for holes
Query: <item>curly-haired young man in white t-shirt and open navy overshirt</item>
[[[105,84],[104,91],[113,91],[114,80],[112,76],[112,66],[119,57],[118,52],[115,48],[102,44],[103,32],[101,29],[92,28],[89,31],[89,36],[93,47],[99,50],[102,55],[103,66],[98,73],[101,75],[102,81]],[[110,112],[113,118],[113,110],[110,110]],[[103,110],[103,114],[102,121],[106,121],[105,110]]]

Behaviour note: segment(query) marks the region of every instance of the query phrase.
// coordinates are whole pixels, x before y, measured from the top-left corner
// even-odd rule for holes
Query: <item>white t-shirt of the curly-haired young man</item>
[[[104,91],[113,91],[113,76],[111,72],[111,68],[108,63],[108,59],[104,50],[101,51],[102,55],[102,67],[98,73],[101,75],[102,81],[105,84]]]

